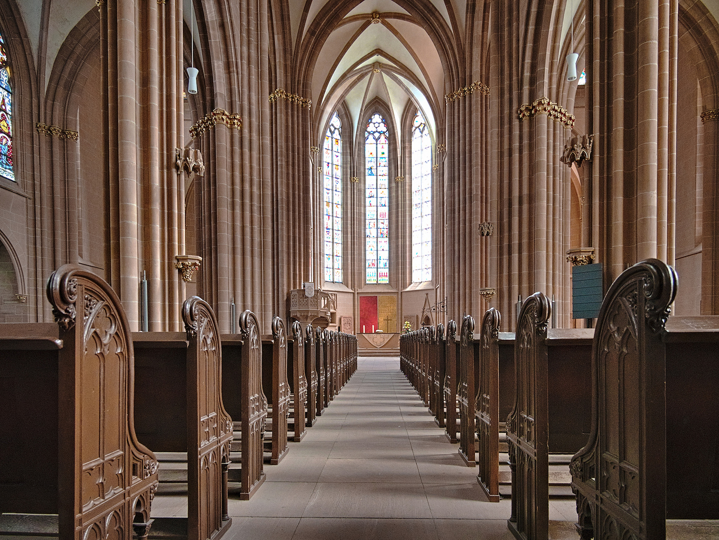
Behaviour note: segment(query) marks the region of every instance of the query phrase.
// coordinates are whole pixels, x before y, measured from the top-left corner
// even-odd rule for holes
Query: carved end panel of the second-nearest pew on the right
[[[512,469],[510,531],[517,538],[546,539],[549,534],[549,408],[546,324],[551,304],[534,293],[519,312],[515,344],[516,393],[507,418]]]

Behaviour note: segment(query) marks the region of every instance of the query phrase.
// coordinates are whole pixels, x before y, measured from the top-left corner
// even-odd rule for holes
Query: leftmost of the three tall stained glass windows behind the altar
[[[324,280],[342,283],[342,122],[324,135]]]

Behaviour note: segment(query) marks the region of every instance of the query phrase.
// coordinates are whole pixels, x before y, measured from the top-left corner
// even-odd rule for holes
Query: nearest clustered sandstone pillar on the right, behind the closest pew
[[[677,0],[589,0],[592,244],[605,283],[647,257],[674,261]]]

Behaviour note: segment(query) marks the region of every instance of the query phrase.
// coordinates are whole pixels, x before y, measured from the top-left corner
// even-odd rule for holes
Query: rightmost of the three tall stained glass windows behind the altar
[[[412,283],[432,279],[432,142],[424,116],[412,128]]]

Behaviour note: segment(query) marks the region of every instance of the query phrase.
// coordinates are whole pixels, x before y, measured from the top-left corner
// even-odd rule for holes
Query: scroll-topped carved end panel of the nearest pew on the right
[[[650,259],[625,270],[605,296],[592,348],[592,433],[572,458],[585,538],[666,534],[665,352],[661,333],[677,275]]]

